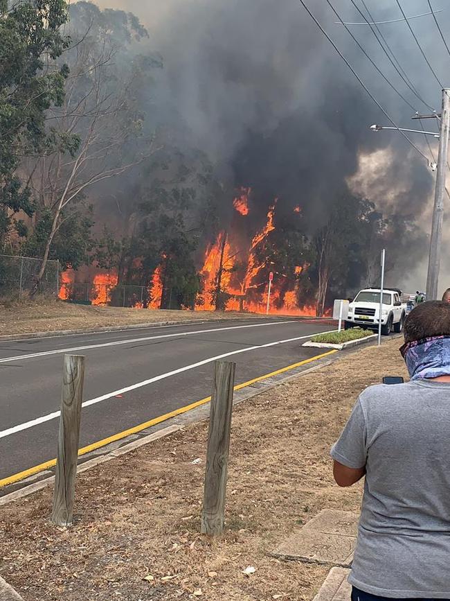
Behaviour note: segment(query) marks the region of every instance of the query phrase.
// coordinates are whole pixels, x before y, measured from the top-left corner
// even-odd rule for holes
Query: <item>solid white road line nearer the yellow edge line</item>
[[[335,330],[332,330],[335,331]],[[325,333],[325,332],[324,332]],[[326,332],[328,333],[328,332]],[[165,374],[161,374],[159,376],[154,376],[153,378],[149,378],[148,380],[144,380],[142,382],[138,382],[136,384],[132,384],[130,386],[126,386],[125,388],[120,388],[119,390],[114,390],[114,392],[108,392],[107,394],[102,394],[101,397],[96,397],[96,399],[90,399],[89,401],[84,401],[82,403],[82,407],[89,407],[91,405],[96,405],[96,403],[100,403],[101,401],[106,401],[107,399],[111,399],[111,397],[116,397],[118,394],[124,394],[125,392],[129,392],[130,390],[136,390],[136,388],[141,388],[143,386],[147,386],[154,382],[158,382],[160,380],[164,380],[165,378],[170,378],[171,376],[176,376],[177,374],[181,374],[182,372],[188,372],[190,369],[195,369],[196,367],[201,367],[201,365],[206,365],[207,363],[212,363],[213,361],[217,361],[219,359],[224,359],[226,357],[230,357],[232,355],[237,355],[240,353],[248,353],[249,351],[255,351],[256,349],[266,349],[268,347],[275,347],[276,345],[283,345],[286,342],[295,342],[296,340],[304,340],[305,338],[312,338],[315,334],[309,334],[309,336],[297,336],[296,338],[287,338],[286,340],[277,340],[276,342],[267,342],[265,345],[258,345],[255,347],[246,347],[244,349],[239,349],[237,351],[231,351],[229,353],[224,353],[222,355],[216,355],[215,357],[209,357],[202,361],[198,361],[197,363],[192,363],[192,365],[185,365],[185,367],[180,367],[179,369],[174,369],[172,372],[167,372]],[[38,426],[39,424],[44,424],[45,421],[51,421],[51,419],[55,419],[60,416],[60,411],[54,411],[53,413],[48,413],[47,415],[42,415],[42,417],[37,417],[36,419],[32,419],[31,421],[26,421],[24,424],[18,424],[17,426],[12,426],[12,428],[8,428],[7,430],[0,431],[0,438],[4,438],[6,436],[10,436],[12,434],[17,434],[22,430],[28,430],[28,428],[33,428],[33,426]]]

